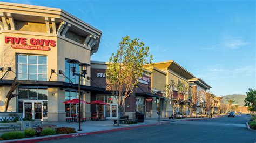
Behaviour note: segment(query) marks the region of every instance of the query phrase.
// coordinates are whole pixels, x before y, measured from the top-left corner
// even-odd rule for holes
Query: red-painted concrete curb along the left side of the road
[[[116,131],[123,131],[123,130],[130,130],[133,128],[139,128],[139,127],[150,127],[150,126],[157,126],[157,125],[165,125],[170,124],[170,122],[157,122],[154,124],[147,124],[147,125],[138,125],[138,126],[130,126],[130,127],[119,127],[119,128],[113,128],[109,130],[102,130],[102,131],[94,131],[94,132],[85,132],[85,133],[73,133],[73,134],[60,134],[60,135],[49,135],[45,137],[35,137],[35,138],[26,138],[26,139],[15,139],[15,140],[6,140],[1,142],[11,143],[33,143],[33,142],[39,142],[39,141],[48,141],[48,140],[58,140],[58,139],[64,139],[64,138],[73,138],[73,137],[81,137],[85,135],[91,135],[91,134],[102,134],[102,133],[110,133],[110,132],[116,132]]]

